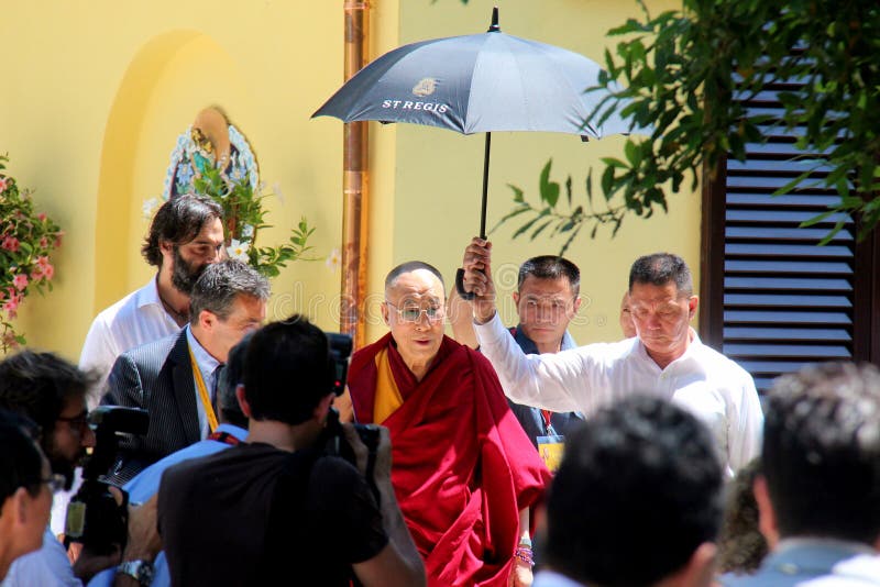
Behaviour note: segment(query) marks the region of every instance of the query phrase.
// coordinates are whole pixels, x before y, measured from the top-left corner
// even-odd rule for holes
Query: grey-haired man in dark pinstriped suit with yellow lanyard
[[[144,436],[129,436],[108,478],[122,484],[217,428],[216,389],[229,351],[266,317],[268,283],[235,259],[213,263],[196,281],[190,321],[179,333],[119,355],[103,405],[150,412]]]

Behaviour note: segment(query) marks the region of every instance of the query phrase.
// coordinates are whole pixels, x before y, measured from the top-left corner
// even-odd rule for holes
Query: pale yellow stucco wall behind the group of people
[[[604,32],[634,13],[635,3],[598,0],[499,0],[502,27],[601,59]],[[341,239],[341,137],[334,119],[309,115],[342,81],[342,0],[148,3],[92,0],[4,1],[0,38],[7,47],[0,91],[0,151],[11,156],[20,185],[65,230],[55,255],[55,290],[32,296],[19,325],[31,345],[76,359],[101,308],[152,275],[139,255],[147,228],[144,200],[157,197],[177,135],[196,112],[217,103],[244,131],[261,177],[279,195],[266,200],[260,244],[286,239],[300,215],[317,226],[312,244],[324,257]],[[380,55],[421,38],[482,32],[493,2],[375,0],[372,51]],[[674,2],[651,2],[672,7]],[[381,299],[395,263],[422,258],[452,276],[477,230],[482,136],[410,125],[371,123],[371,244],[369,283]],[[512,182],[535,196],[538,173],[553,157],[558,179],[582,185],[591,162],[614,140],[496,133],[490,225],[510,207]],[[669,217],[630,219],[616,239],[581,239],[570,255],[582,268],[588,304],[583,342],[618,336],[616,313],[626,273],[641,253],[666,248],[698,262],[698,199],[671,202]],[[493,234],[496,264],[558,250],[558,242]],[[507,288],[509,291],[509,287]],[[296,263],[273,281],[270,318],[305,311],[336,329],[339,273],[323,262]],[[371,315],[376,317],[375,307]],[[510,319],[513,308],[504,308]],[[585,320],[588,319],[588,320]],[[373,320],[367,339],[384,332]]]

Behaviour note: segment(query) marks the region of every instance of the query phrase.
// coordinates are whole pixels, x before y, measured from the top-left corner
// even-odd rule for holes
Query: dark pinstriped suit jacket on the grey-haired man
[[[108,480],[124,484],[160,458],[200,439],[186,329],[119,355],[101,405],[150,412],[145,436],[127,435]]]

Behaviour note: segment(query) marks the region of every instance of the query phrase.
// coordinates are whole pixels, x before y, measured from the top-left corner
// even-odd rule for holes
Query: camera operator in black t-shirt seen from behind
[[[344,359],[345,357],[343,357]],[[373,466],[351,425],[359,469],[321,447],[337,378],[327,336],[304,317],[257,331],[238,389],[248,442],[167,469],[158,529],[175,585],[425,585],[391,486],[382,429]]]

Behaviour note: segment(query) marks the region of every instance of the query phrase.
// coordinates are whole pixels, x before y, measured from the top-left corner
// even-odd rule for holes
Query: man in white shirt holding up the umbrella
[[[691,330],[698,300],[681,257],[658,253],[632,264],[629,309],[636,337],[526,355],[497,315],[491,251],[487,241],[471,241],[463,259],[464,287],[475,295],[471,303],[481,350],[507,397],[590,418],[634,392],[654,394],[690,409],[708,425],[728,477],[758,454],[763,416],[755,383]]]

